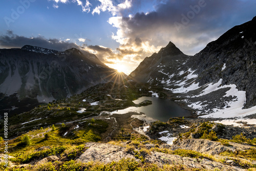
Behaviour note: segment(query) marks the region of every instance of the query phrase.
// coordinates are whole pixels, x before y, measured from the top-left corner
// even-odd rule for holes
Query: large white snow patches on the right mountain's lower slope
[[[222,66],[222,71],[226,69],[226,63]],[[163,69],[161,69],[158,72],[161,72],[162,74],[166,75],[166,73],[162,72]],[[195,79],[198,77],[197,74],[194,74],[195,71],[188,69],[187,71],[179,71],[178,74],[181,76],[182,74],[187,74],[183,79],[176,81],[172,80],[174,77],[174,74],[169,76],[169,79],[163,79],[161,80],[162,84],[165,84],[166,87],[164,88],[165,90],[172,91],[173,93],[179,93],[179,94],[184,94],[185,101],[188,103],[188,107],[195,109],[198,111],[198,114],[206,114],[203,116],[200,116],[202,118],[233,118],[233,117],[244,117],[247,115],[255,114],[256,113],[256,106],[253,106],[252,108],[249,109],[243,109],[244,104],[246,103],[246,92],[245,91],[239,91],[237,89],[237,86],[235,84],[229,84],[229,85],[223,85],[222,84],[222,79],[220,79],[216,83],[208,83],[204,84],[203,86],[199,87],[199,83],[195,82]],[[153,81],[153,79],[151,80]],[[178,87],[173,89],[172,87],[168,88],[168,86]],[[201,88],[201,89],[200,89]],[[207,102],[205,100],[202,101],[193,101],[193,99],[200,99],[200,97],[204,95],[209,95],[209,93],[221,90],[221,89],[227,89],[229,88],[228,91],[222,96],[222,97],[228,97],[232,98],[232,100],[227,101],[225,103],[225,106],[220,108],[217,106],[214,109],[211,110],[205,110],[209,109],[208,105],[210,102]],[[201,92],[197,92],[196,94],[188,94],[190,91],[195,91],[195,90],[201,90]],[[153,91],[151,91],[153,94],[156,95]],[[184,96],[183,95],[183,96]],[[186,98],[187,97],[187,98]],[[220,97],[221,98],[221,97]]]

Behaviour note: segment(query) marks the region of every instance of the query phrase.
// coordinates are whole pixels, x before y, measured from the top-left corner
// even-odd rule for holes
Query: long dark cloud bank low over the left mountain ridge
[[[57,51],[65,51],[70,48],[80,49],[79,46],[72,42],[60,41],[56,38],[46,39],[45,37],[24,37],[13,34],[11,30],[6,35],[0,36],[0,46],[3,48],[21,48],[24,45],[38,46]]]

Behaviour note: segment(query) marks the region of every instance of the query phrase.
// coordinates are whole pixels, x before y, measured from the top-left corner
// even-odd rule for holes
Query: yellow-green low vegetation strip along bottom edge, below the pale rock
[[[18,168],[17,166],[8,169],[8,171],[86,171],[86,170],[109,170],[109,171],[182,171],[182,170],[198,170],[188,169],[182,165],[163,165],[157,166],[152,163],[137,162],[134,159],[121,159],[118,162],[111,162],[103,164],[99,162],[82,163],[79,161],[66,161],[66,162],[48,162],[39,166],[26,166],[24,168]]]

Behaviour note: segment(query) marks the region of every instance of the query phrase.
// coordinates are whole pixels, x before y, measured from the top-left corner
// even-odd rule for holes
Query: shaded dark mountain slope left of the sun
[[[123,75],[124,76],[124,75]],[[40,47],[0,49],[0,92],[2,109],[49,102],[80,93],[98,83],[121,81],[124,77],[90,53],[72,48],[64,52]]]

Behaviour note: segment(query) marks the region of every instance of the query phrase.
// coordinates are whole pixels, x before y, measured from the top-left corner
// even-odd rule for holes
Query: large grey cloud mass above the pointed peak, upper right
[[[155,47],[173,41],[183,52],[195,54],[231,27],[252,19],[255,6],[252,0],[158,1],[155,11],[122,16],[116,26],[122,31],[119,38],[129,38],[127,45],[140,47],[138,37]]]

